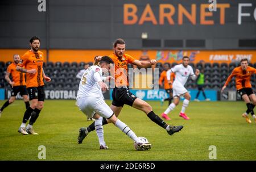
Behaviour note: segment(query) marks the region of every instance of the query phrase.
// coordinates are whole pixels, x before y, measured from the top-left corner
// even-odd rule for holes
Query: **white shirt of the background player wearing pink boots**
[[[167,71],[168,80],[170,80],[171,72],[175,73],[174,82],[179,82],[183,86],[185,85],[190,76],[195,75],[195,73],[193,72],[193,68],[190,65],[188,65],[187,68],[185,68],[183,64],[175,65],[174,68],[171,68]]]

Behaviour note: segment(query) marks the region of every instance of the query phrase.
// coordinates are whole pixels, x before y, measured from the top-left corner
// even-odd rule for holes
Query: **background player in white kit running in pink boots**
[[[185,89],[184,85],[187,82],[188,78],[191,77],[193,80],[197,78],[200,73],[199,69],[196,69],[196,72],[193,72],[193,68],[188,65],[189,57],[184,56],[182,58],[182,64],[175,65],[174,68],[167,71],[167,80],[169,84],[172,84],[173,97],[174,102],[170,104],[166,111],[163,112],[162,117],[168,118],[168,113],[179,104],[180,96],[184,96],[183,106],[180,111],[180,117],[188,120],[188,116],[185,114],[185,109],[188,107],[189,100],[191,99],[191,95],[188,93],[188,90]],[[171,72],[175,73],[174,83],[171,82],[170,74]]]

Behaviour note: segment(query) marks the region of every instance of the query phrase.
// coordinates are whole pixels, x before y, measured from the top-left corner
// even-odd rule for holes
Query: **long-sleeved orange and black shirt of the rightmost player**
[[[256,73],[256,69],[248,66],[246,70],[242,70],[242,67],[239,66],[237,68],[234,68],[232,73],[229,75],[228,79],[226,79],[226,83],[224,86],[227,86],[228,83],[231,81],[233,77],[236,77],[236,87],[237,90],[243,89],[243,88],[251,88],[251,75]]]

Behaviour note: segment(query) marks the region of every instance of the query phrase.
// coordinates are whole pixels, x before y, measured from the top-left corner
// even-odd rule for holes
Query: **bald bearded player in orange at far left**
[[[20,93],[20,95],[22,95],[23,100],[26,104],[26,108],[28,108],[30,106],[30,102],[29,102],[28,96],[27,96],[25,74],[16,71],[16,66],[19,63],[19,61],[20,61],[19,54],[14,54],[13,55],[13,63],[10,64],[7,67],[7,71],[6,71],[6,74],[5,74],[5,79],[12,87],[11,88],[11,97],[1,107],[0,117],[1,117],[3,109],[6,108],[7,106],[9,106],[9,104],[14,102],[15,97],[18,93]],[[11,81],[10,75],[11,75],[11,78],[12,78],[13,81]]]

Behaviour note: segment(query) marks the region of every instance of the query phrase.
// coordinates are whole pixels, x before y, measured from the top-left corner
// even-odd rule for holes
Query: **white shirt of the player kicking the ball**
[[[79,91],[76,99],[88,96],[104,98],[100,85],[98,85],[98,82],[96,82],[93,77],[94,73],[96,72],[100,73],[100,76],[102,77],[102,69],[98,65],[90,66],[85,70],[79,83]]]

